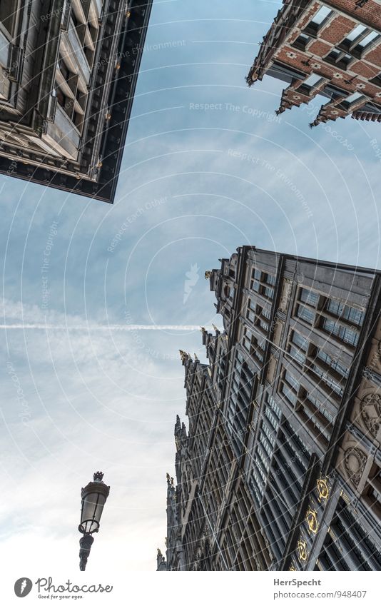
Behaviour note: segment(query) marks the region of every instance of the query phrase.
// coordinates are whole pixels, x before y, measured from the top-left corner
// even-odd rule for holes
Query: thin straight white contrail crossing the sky
[[[172,325],[172,324],[0,324],[3,330],[121,330],[133,332],[134,330],[200,330],[196,325]],[[205,326],[207,330],[213,330],[212,326]],[[221,330],[222,332],[222,330]]]

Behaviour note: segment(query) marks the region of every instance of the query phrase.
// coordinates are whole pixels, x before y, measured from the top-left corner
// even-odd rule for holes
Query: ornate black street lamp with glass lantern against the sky
[[[85,570],[88,555],[93,545],[94,532],[99,530],[99,522],[103,512],[104,504],[110,493],[110,487],[103,484],[103,473],[94,473],[94,481],[89,482],[81,490],[81,523],[78,526],[83,537],[79,540],[79,570]]]

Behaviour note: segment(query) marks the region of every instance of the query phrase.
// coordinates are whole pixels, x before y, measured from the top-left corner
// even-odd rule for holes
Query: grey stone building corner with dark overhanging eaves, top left
[[[1,0],[0,173],[112,202],[152,0]]]

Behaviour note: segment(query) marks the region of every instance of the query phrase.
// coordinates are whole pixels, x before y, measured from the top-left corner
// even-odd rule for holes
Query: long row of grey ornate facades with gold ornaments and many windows
[[[381,273],[243,246],[205,276],[158,570],[381,570]]]

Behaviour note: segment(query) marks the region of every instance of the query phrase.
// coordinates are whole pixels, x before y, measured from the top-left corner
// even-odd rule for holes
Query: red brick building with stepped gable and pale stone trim
[[[322,95],[310,126],[347,116],[381,122],[381,0],[283,0],[248,85],[265,74],[288,83],[277,113]]]

